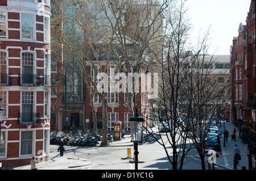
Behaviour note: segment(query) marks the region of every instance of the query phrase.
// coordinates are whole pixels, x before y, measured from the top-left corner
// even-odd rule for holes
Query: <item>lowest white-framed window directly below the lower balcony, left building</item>
[[[32,155],[33,132],[22,131],[20,138],[20,155]]]

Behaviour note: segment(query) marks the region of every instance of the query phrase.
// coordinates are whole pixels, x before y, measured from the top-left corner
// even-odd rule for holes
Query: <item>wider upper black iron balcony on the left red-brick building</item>
[[[19,86],[51,86],[51,75],[19,74]]]

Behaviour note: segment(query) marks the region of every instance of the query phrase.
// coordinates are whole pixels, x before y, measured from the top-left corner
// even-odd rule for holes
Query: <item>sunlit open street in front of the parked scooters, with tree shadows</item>
[[[78,147],[66,146],[64,156],[60,157],[57,145],[50,145],[49,161],[42,162],[39,158],[39,170],[134,170],[132,159],[127,157],[127,148],[133,154],[133,142],[130,135],[121,141],[113,141],[108,147]],[[158,142],[138,146],[139,170],[172,170],[167,155]],[[171,155],[172,149],[168,150]],[[201,170],[201,161],[196,156],[196,151],[189,152],[183,166],[184,170]],[[132,155],[133,156],[133,155]],[[15,170],[29,170],[30,165],[16,167]],[[216,169],[218,169],[216,167]]]

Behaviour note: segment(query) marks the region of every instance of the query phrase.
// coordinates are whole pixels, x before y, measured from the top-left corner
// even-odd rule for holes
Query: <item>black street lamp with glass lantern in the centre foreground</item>
[[[138,115],[137,108],[134,116],[131,117],[129,121],[131,128],[131,140],[134,142],[135,170],[138,170],[138,143],[141,141],[144,119]]]

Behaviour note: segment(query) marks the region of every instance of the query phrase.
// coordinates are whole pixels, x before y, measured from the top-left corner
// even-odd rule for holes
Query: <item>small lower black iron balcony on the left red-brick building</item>
[[[39,112],[19,112],[18,124],[19,125],[33,125],[40,123]]]

